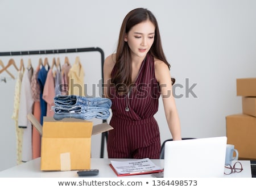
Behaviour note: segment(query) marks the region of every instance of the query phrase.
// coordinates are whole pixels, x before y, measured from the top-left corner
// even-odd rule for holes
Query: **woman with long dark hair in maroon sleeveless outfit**
[[[160,133],[154,115],[160,95],[172,138],[181,140],[174,82],[155,16],[142,8],[130,11],[121,26],[117,52],[104,62],[104,96],[113,103],[109,158],[159,158]]]

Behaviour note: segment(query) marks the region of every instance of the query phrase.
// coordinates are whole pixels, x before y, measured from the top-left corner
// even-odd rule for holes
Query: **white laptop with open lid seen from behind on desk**
[[[227,138],[167,141],[163,177],[223,177]]]

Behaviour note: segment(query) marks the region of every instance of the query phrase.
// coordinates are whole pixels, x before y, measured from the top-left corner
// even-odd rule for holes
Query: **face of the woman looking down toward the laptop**
[[[154,36],[155,26],[150,20],[133,26],[125,35],[132,56],[144,58],[154,43]]]

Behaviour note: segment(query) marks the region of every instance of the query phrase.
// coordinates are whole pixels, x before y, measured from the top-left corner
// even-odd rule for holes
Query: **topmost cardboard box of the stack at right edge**
[[[237,79],[237,96],[256,96],[256,78]]]

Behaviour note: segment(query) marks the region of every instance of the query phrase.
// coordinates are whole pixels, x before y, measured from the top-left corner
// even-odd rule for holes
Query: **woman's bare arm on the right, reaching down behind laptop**
[[[163,61],[155,60],[155,76],[160,85],[164,112],[172,138],[174,140],[181,140],[180,119],[177,113],[175,99],[172,95],[170,70]]]

